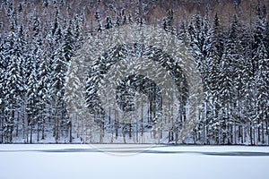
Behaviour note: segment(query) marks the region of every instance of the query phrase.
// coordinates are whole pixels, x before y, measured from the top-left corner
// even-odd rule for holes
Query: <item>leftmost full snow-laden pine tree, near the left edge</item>
[[[18,104],[22,99],[22,49],[14,31],[9,33],[4,44],[4,61],[6,61],[6,71],[4,73],[4,134],[6,142],[13,142],[15,114],[18,112]]]

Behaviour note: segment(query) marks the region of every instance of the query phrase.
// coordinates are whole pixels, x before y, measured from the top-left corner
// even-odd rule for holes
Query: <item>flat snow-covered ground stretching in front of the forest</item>
[[[268,179],[269,147],[0,145],[1,179]]]

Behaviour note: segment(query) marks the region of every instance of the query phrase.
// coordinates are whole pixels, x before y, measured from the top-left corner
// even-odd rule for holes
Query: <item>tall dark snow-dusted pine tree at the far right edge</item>
[[[256,132],[257,142],[265,142],[265,123],[266,115],[268,115],[268,37],[266,36],[266,9],[257,6],[256,21],[254,30],[254,45],[253,45],[253,57],[254,63],[254,90],[255,90],[255,117],[257,120],[257,126],[254,129]],[[267,107],[266,107],[267,106]],[[255,141],[254,141],[255,142]]]

